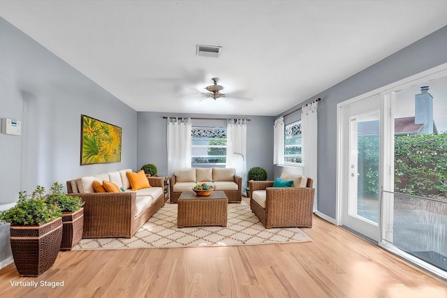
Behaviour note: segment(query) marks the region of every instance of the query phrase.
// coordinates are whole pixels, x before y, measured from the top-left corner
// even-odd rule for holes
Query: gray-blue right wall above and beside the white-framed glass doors
[[[445,63],[447,27],[305,100],[306,103],[321,98],[318,102],[318,211],[331,218],[337,215],[337,103]]]

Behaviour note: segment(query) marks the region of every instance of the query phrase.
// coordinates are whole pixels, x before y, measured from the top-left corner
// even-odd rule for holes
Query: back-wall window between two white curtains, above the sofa
[[[225,167],[226,136],[226,127],[193,127],[191,131],[191,166]]]

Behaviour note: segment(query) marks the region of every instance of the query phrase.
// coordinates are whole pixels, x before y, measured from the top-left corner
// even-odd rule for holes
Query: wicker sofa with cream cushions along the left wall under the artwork
[[[68,195],[82,198],[83,238],[126,237],[133,234],[165,203],[163,177],[149,177],[151,187],[132,191],[126,172],[119,170],[67,181]],[[124,188],[120,193],[97,193],[93,182],[110,181]]]

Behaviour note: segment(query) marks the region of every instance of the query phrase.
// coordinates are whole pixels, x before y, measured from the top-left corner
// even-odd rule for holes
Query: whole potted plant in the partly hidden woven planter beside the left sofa
[[[61,251],[70,251],[73,246],[82,239],[84,229],[84,202],[81,198],[62,193],[64,186],[58,181],[50,187],[50,194],[47,195],[49,204],[57,204],[62,211],[62,241]]]

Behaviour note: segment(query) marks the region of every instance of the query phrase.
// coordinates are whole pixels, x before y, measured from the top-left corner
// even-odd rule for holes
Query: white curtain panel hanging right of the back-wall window
[[[242,177],[242,193],[247,187],[247,122],[245,119],[229,119],[226,127],[226,167],[234,167]]]

